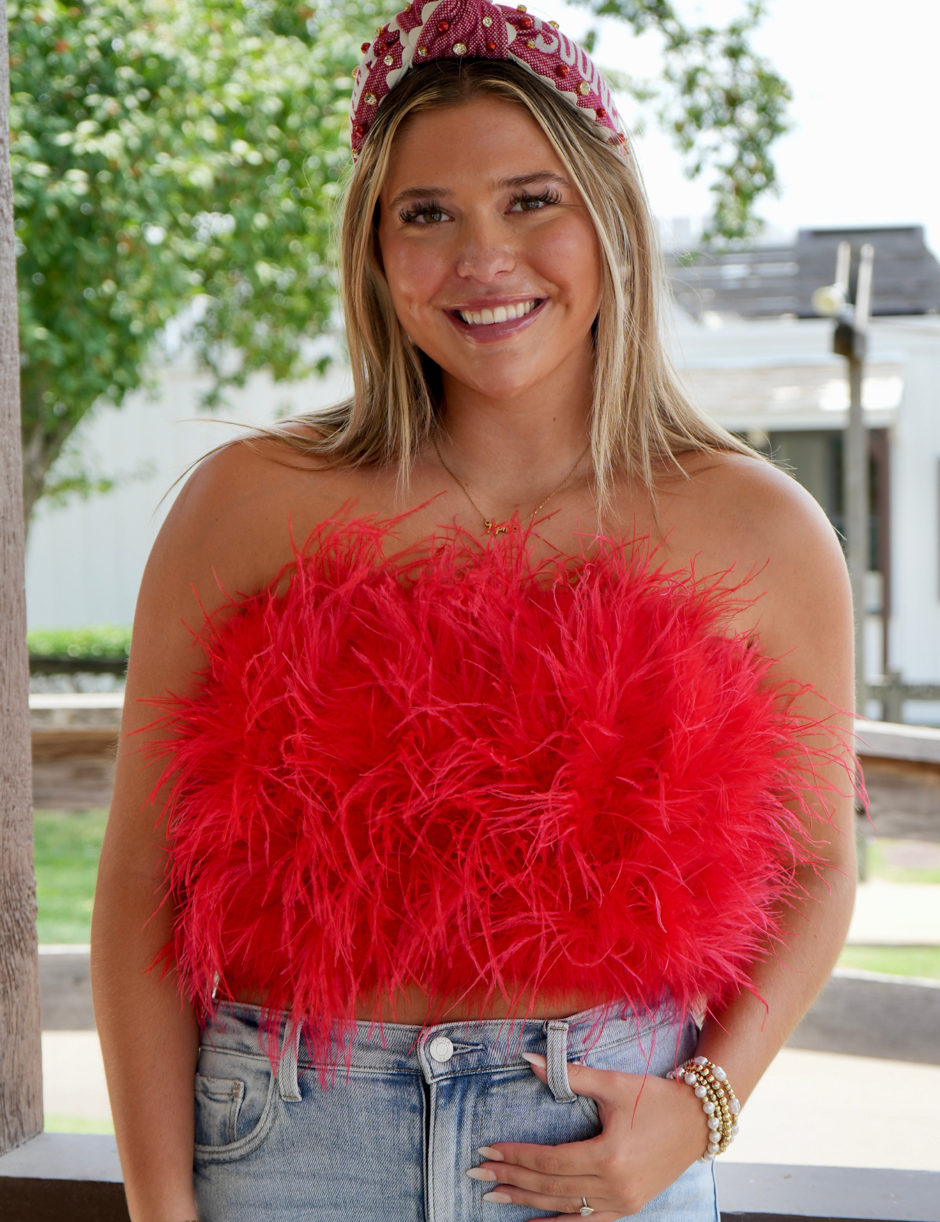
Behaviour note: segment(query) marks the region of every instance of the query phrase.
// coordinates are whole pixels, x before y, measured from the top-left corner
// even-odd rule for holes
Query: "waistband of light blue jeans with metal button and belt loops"
[[[362,1070],[420,1073],[433,1083],[518,1066],[522,1052],[538,1052],[548,1059],[556,1099],[567,1100],[575,1097],[567,1085],[568,1061],[589,1062],[592,1052],[626,1042],[639,1045],[648,1062],[656,1051],[661,1059],[677,1046],[687,1022],[670,1002],[654,1011],[634,1011],[620,1002],[553,1019],[460,1019],[427,1026],[357,1022],[337,1042],[336,1067],[341,1077]],[[247,1003],[220,1003],[203,1028],[202,1042],[218,1051],[269,1057],[277,1066],[286,1099],[295,1096],[298,1068],[324,1068],[310,1058],[303,1028],[286,1012],[271,1014]]]

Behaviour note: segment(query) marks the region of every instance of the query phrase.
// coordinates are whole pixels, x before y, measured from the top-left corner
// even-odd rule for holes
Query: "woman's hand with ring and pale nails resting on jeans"
[[[544,1057],[533,1059],[532,1069],[548,1081]],[[556,1146],[484,1146],[487,1161],[469,1172],[493,1183],[495,1195],[484,1200],[555,1210],[566,1222],[581,1222],[586,1199],[593,1222],[615,1222],[643,1209],[702,1157],[705,1117],[685,1084],[578,1064],[568,1064],[568,1081],[597,1102],[601,1132]]]

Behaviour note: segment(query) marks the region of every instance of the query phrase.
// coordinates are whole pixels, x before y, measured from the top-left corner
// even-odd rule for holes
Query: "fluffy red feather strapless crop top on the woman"
[[[826,753],[726,632],[735,595],[604,540],[534,565],[524,533],[387,558],[387,532],[321,525],[161,701],[164,957],[197,1012],[251,990],[325,1050],[416,984],[740,987],[814,862]]]

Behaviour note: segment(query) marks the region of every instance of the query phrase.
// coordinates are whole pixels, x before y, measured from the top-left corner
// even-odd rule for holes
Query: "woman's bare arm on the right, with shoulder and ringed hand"
[[[738,576],[755,572],[744,593],[757,602],[736,628],[758,632],[763,653],[781,659],[779,682],[812,686],[817,694],[803,699],[803,710],[831,719],[820,739],[839,755],[851,726],[834,710],[852,709],[853,642],[835,534],[815,502],[771,468],[742,464],[731,478],[710,475],[682,489],[689,491],[686,506],[666,506],[667,551],[676,567],[696,556],[699,573],[731,566]],[[856,880],[850,754],[842,750],[823,774],[832,787],[829,802],[808,794],[814,815],[807,835],[821,866],[819,874],[801,873],[806,896],[782,909],[782,942],[768,946],[752,970],[763,1000],[742,991],[709,1015],[698,1044],[697,1052],[726,1070],[742,1101],[824,986],[845,940]],[[544,1067],[533,1070],[546,1080]],[[573,1218],[586,1196],[595,1222],[614,1222],[637,1212],[703,1154],[704,1116],[688,1086],[587,1066],[570,1066],[568,1078],[573,1091],[597,1101],[601,1134],[564,1146],[499,1143],[501,1161],[482,1167],[506,1199]]]

